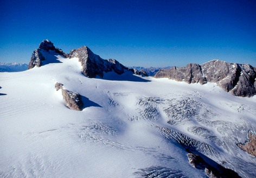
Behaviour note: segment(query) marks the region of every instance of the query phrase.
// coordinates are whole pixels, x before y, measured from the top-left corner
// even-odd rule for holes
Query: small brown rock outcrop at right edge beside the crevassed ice
[[[253,135],[251,132],[248,133],[249,141],[245,144],[238,144],[238,146],[246,151],[248,154],[256,156],[256,135]]]

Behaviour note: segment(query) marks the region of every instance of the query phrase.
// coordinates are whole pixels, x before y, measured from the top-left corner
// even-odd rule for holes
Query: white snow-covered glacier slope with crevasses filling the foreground
[[[236,145],[256,134],[256,96],[131,71],[88,78],[78,58],[43,55],[53,63],[0,74],[0,177],[206,177],[188,153],[256,175]],[[82,111],[56,82],[82,96]]]

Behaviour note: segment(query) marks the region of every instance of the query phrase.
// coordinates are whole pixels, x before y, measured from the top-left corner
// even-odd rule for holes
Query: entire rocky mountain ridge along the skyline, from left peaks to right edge
[[[97,76],[103,78],[104,73],[110,71],[121,75],[129,70],[136,75],[148,76],[145,69],[141,69],[140,71],[136,68],[129,69],[116,60],[104,60],[86,46],[73,49],[67,54],[61,49],[55,48],[53,43],[48,39],[43,40],[39,48],[33,52],[28,69],[43,65],[44,61],[46,61],[46,58],[42,55],[44,52],[55,52],[67,59],[77,57],[82,66],[82,74],[89,78],[95,78]],[[153,71],[149,70],[149,72]],[[189,63],[186,67],[160,69],[154,77],[167,77],[189,84],[213,82],[234,96],[251,97],[256,94],[256,68],[249,64],[228,63],[220,60],[212,60],[201,65]]]

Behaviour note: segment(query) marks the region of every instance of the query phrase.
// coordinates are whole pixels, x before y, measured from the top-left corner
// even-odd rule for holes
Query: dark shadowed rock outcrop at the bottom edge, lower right
[[[191,166],[196,169],[204,170],[206,175],[210,178],[240,177],[233,170],[224,168],[220,164],[216,164],[216,167],[210,166],[210,164],[204,161],[201,156],[193,153],[188,154],[188,160]]]

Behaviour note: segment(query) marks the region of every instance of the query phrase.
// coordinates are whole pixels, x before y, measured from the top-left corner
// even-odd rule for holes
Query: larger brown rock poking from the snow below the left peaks
[[[82,110],[84,103],[82,102],[81,95],[74,93],[73,91],[62,89],[62,96],[68,108]]]

